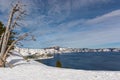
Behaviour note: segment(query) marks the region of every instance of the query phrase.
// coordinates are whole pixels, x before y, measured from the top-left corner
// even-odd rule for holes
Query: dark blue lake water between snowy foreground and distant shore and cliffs
[[[54,58],[44,59],[41,62],[55,67],[57,60],[61,62],[62,68],[120,71],[120,53],[118,52],[56,54]]]

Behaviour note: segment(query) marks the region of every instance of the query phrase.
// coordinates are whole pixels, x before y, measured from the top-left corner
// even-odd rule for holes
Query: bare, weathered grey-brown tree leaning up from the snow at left
[[[10,38],[10,33],[16,26],[18,26],[18,21],[22,19],[22,17],[25,15],[26,11],[24,10],[23,4],[20,2],[17,2],[15,5],[12,5],[12,9],[9,14],[8,23],[6,26],[6,30],[3,33],[4,35],[1,37],[0,41],[0,66],[3,67],[6,63],[7,54],[10,51],[10,49],[14,46],[14,44],[17,43],[19,40],[23,40],[26,36],[28,36],[27,33],[19,36],[15,41],[13,41],[8,47],[8,40]]]

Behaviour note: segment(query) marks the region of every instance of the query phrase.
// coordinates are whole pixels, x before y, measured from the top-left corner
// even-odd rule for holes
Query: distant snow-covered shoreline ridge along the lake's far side
[[[15,51],[23,54],[55,54],[55,53],[72,53],[72,52],[120,52],[120,48],[99,48],[99,49],[89,49],[89,48],[61,48],[61,47],[50,47],[45,49],[29,49],[29,48],[19,48],[16,47]]]

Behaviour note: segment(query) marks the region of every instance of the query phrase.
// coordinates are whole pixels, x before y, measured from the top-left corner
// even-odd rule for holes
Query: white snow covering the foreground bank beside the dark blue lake
[[[120,71],[87,71],[46,66],[20,55],[10,56],[13,68],[0,68],[0,80],[120,80]]]

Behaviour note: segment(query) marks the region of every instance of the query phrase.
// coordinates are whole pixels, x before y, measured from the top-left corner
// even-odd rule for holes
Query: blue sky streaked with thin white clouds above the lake
[[[5,24],[11,1],[0,0],[0,20]],[[24,47],[120,47],[120,0],[21,1],[28,15],[18,30],[36,37],[23,41]]]

